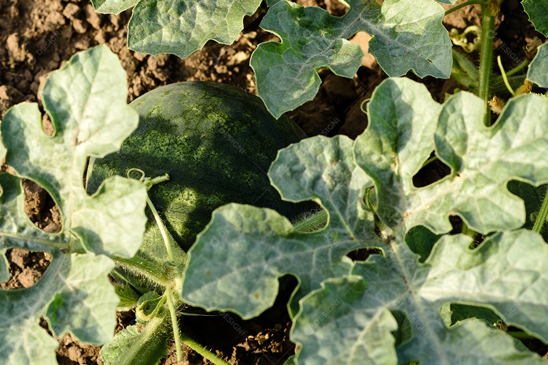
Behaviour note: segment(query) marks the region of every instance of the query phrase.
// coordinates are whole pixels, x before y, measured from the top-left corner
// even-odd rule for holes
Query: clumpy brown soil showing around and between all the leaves
[[[459,0],[458,3],[463,2]],[[344,14],[344,7],[335,0],[303,0],[305,5],[319,4],[335,15]],[[173,55],[149,56],[126,48],[127,23],[131,15],[96,14],[87,1],[78,0],[0,0],[0,115],[12,105],[38,102],[39,91],[46,76],[64,64],[75,52],[106,43],[118,54],[128,72],[128,101],[158,86],[184,80],[209,80],[232,84],[255,93],[254,76],[249,56],[259,43],[275,40],[276,36],[259,28],[264,9],[244,20],[244,31],[232,45],[208,42],[203,50],[181,60]],[[463,31],[479,23],[478,7],[466,7],[446,17],[446,26]],[[528,22],[518,0],[506,0],[499,16],[496,55],[503,56],[507,69],[520,63],[523,46],[541,37]],[[541,38],[544,40],[544,38]],[[367,49],[367,34],[352,39]],[[477,54],[470,55],[472,60]],[[387,76],[370,55],[364,57],[362,67],[353,79],[340,78],[328,70],[319,72],[323,83],[313,101],[288,113],[309,136],[346,134],[355,138],[367,126],[362,102],[372,96],[374,88]],[[409,74],[411,78],[419,80]],[[443,102],[446,92],[457,86],[455,81],[426,78],[432,96]],[[365,105],[363,105],[365,108]],[[439,168],[426,175],[439,176]],[[437,175],[436,175],[437,174]],[[437,177],[439,178],[439,177]],[[430,180],[430,179],[427,179]],[[431,182],[431,181],[430,181]],[[58,232],[61,221],[52,199],[36,184],[25,181],[26,212],[36,225],[48,232]],[[3,289],[28,287],[36,282],[47,268],[50,257],[42,252],[8,250],[10,279],[2,282]],[[231,364],[277,365],[294,354],[289,341],[290,320],[285,303],[292,287],[282,290],[274,307],[256,319],[242,321],[236,315],[216,318],[183,317],[181,325],[192,329],[197,339]],[[229,316],[229,317],[226,317]],[[230,318],[230,319],[229,319]],[[134,315],[119,315],[118,330],[132,324]],[[61,365],[101,364],[97,346],[82,345],[70,335],[59,339],[57,351]],[[174,364],[174,349],[163,364]],[[185,351],[185,364],[202,364],[201,356]]]

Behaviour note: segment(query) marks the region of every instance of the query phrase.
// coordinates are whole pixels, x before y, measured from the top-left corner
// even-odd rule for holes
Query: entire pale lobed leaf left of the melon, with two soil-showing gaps
[[[116,151],[137,126],[126,87],[118,58],[99,46],[73,56],[47,79],[42,99],[54,136],[43,132],[37,104],[21,103],[4,114],[6,162],[19,176],[0,174],[0,250],[50,252],[53,261],[35,285],[0,290],[0,364],[56,364],[57,343],[39,326],[41,317],[58,337],[70,332],[93,344],[112,338],[119,299],[107,277],[114,267],[110,256],[138,250],[146,191],[118,176],[90,197],[82,179],[89,156]],[[61,232],[44,232],[28,219],[21,177],[53,197]]]

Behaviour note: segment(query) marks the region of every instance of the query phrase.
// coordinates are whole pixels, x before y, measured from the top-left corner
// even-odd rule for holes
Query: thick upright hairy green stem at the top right
[[[481,29],[481,54],[479,55],[479,86],[478,96],[484,102],[484,123],[491,125],[491,112],[488,101],[490,99],[491,74],[493,72],[493,35],[495,17],[491,14],[488,2],[481,3],[482,29]]]

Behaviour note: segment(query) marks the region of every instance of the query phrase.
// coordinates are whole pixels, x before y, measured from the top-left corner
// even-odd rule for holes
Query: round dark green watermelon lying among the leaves
[[[226,203],[272,208],[288,217],[302,211],[281,201],[266,172],[279,149],[306,136],[288,117],[274,119],[260,98],[229,85],[186,81],[147,92],[130,105],[139,113],[139,127],[121,150],[90,161],[89,193],[129,168],[152,178],[168,173],[171,179],[149,195],[184,250]],[[145,245],[160,239],[163,246],[147,214]]]

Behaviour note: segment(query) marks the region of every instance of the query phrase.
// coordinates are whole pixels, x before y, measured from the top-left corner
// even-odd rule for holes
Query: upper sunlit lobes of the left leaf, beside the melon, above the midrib
[[[90,49],[75,55],[44,85],[42,98],[54,136],[42,131],[35,103],[8,110],[1,130],[8,165],[43,186],[58,204],[65,233],[58,240],[76,234],[97,254],[131,257],[146,221],[145,191],[136,181],[116,178],[90,198],[82,183],[87,158],[117,151],[138,124],[138,115],[125,102],[125,83],[115,54],[106,46]]]

